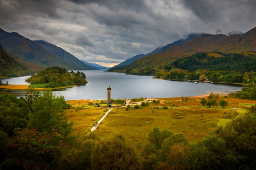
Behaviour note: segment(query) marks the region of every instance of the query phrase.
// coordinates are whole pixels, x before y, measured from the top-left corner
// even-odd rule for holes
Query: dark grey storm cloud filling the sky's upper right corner
[[[205,23],[219,21],[219,24],[229,24],[230,27],[243,23],[255,25],[256,1],[254,0],[182,0],[182,3]],[[247,28],[248,25],[245,27]]]

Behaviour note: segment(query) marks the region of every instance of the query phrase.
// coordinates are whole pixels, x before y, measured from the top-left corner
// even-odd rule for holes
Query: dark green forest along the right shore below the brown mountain
[[[209,80],[212,82],[256,83],[256,57],[253,54],[223,54],[221,57],[209,56],[208,53],[197,53],[190,57],[179,58],[165,65],[167,72],[158,72],[156,78],[166,80]],[[174,67],[182,71],[172,71]],[[170,71],[169,71],[170,70]]]

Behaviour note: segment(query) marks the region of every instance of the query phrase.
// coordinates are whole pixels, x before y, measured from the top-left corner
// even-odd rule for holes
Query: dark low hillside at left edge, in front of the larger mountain
[[[1,47],[2,45],[0,44],[0,77],[19,77],[34,73],[15,61],[15,59],[8,55]]]

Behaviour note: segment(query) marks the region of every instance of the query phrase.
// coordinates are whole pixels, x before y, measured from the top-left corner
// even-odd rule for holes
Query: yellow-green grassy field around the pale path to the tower
[[[134,109],[133,106],[129,111],[125,107],[113,109],[95,131],[101,137],[121,133],[134,142],[145,142],[148,133],[158,127],[161,130],[184,133],[190,142],[197,142],[219,125],[225,125],[233,118],[246,114],[251,105],[255,104],[255,100],[230,97],[223,99],[228,101],[226,108],[202,106],[199,97],[189,98],[187,102],[182,98],[161,98],[157,99],[161,101],[159,104],[147,100],[150,106],[142,109]],[[67,109],[69,121],[74,121],[73,134],[88,131],[106,113],[106,108],[89,106],[89,102],[98,101],[67,101],[73,106]],[[163,106],[168,106],[168,109],[163,109]],[[234,111],[234,107],[238,108],[237,111]]]

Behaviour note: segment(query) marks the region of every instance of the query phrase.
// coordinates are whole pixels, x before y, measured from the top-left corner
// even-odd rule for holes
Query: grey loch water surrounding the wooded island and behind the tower
[[[170,81],[153,79],[153,76],[126,75],[124,73],[111,73],[102,70],[82,71],[86,75],[88,83],[73,88],[53,91],[54,94],[65,96],[66,100],[78,99],[107,99],[107,88],[111,87],[111,98],[131,99],[139,97],[166,98],[181,96],[206,95],[211,92],[229,94],[240,91],[242,86],[230,84],[201,83],[194,84],[188,81]],[[9,84],[28,84],[28,77],[3,79]],[[0,90],[11,92],[9,90]],[[12,91],[13,92],[13,91]],[[14,91],[17,93],[20,91]]]

